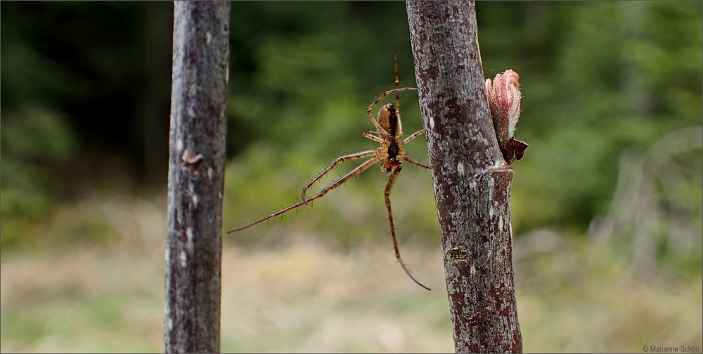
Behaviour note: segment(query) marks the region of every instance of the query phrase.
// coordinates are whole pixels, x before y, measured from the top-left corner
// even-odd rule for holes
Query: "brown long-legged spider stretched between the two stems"
[[[374,165],[375,163],[380,163],[381,165],[381,170],[382,172],[389,173],[388,177],[388,182],[386,183],[386,188],[384,192],[385,196],[385,202],[386,202],[386,208],[388,210],[388,222],[390,224],[390,229],[391,229],[391,236],[393,239],[393,248],[395,251],[396,259],[398,260],[398,263],[400,263],[401,267],[403,267],[403,270],[405,270],[406,274],[408,274],[408,277],[410,279],[413,279],[413,282],[417,283],[418,285],[422,286],[423,288],[430,290],[427,286],[423,285],[422,283],[418,282],[418,279],[415,279],[413,277],[413,274],[411,274],[410,270],[408,270],[408,267],[406,267],[405,263],[403,262],[403,259],[400,256],[400,251],[398,248],[398,240],[396,238],[396,233],[395,233],[395,227],[393,225],[393,213],[391,210],[391,200],[390,200],[390,195],[391,195],[391,189],[393,188],[393,184],[396,180],[396,177],[398,177],[398,174],[402,170],[402,161],[405,160],[408,163],[412,163],[413,165],[418,165],[420,167],[430,169],[430,166],[425,165],[423,163],[420,163],[418,161],[413,160],[408,156],[408,152],[403,148],[405,144],[408,144],[410,141],[415,139],[416,137],[420,136],[425,132],[425,129],[420,129],[417,132],[414,132],[413,134],[408,135],[405,139],[401,139],[403,137],[403,124],[400,119],[400,91],[408,91],[408,90],[416,90],[415,87],[399,87],[399,79],[398,79],[398,55],[395,53],[394,55],[394,68],[395,68],[395,89],[391,89],[388,91],[383,92],[378,96],[378,99],[373,101],[370,105],[368,105],[368,108],[366,108],[366,116],[368,119],[373,123],[374,127],[376,128],[375,132],[366,130],[361,133],[361,135],[367,139],[373,140],[377,143],[380,144],[378,148],[375,148],[373,150],[367,150],[367,151],[361,151],[359,153],[350,153],[349,155],[344,155],[340,156],[338,158],[335,158],[335,160],[330,163],[330,165],[325,168],[322,172],[320,172],[314,179],[312,179],[308,184],[305,184],[302,190],[302,198],[298,203],[293,204],[292,206],[288,206],[286,208],[283,208],[281,210],[278,210],[276,213],[273,213],[267,217],[264,217],[261,220],[257,220],[255,222],[252,222],[249,225],[246,225],[244,227],[240,227],[238,229],[232,229],[228,234],[231,232],[238,232],[242,231],[243,229],[248,229],[249,227],[252,227],[254,225],[257,225],[261,222],[264,222],[266,220],[271,220],[273,217],[277,217],[279,215],[283,215],[284,213],[288,213],[290,210],[294,210],[299,208],[300,206],[304,206],[307,203],[314,201],[317,198],[322,198],[327,194],[329,191],[332,191],[333,189],[340,187],[344,182],[347,182],[349,179],[352,179],[358,175],[360,175],[362,172],[366,171],[369,167]],[[373,110],[374,106],[376,106],[382,99],[384,99],[386,96],[395,94],[396,96],[396,103],[393,105],[393,103],[386,103],[385,105],[381,106],[381,108],[378,110],[378,120],[373,117],[373,114],[371,113],[371,110]],[[354,168],[354,170],[350,171],[347,173],[347,175],[344,175],[337,179],[335,182],[332,182],[328,187],[323,188],[321,191],[318,192],[318,194],[315,194],[314,196],[307,196],[306,191],[312,187],[312,185],[317,182],[319,179],[321,179],[324,175],[326,175],[330,170],[332,170],[338,163],[342,163],[344,161],[349,161],[349,160],[358,160],[360,158],[369,158],[369,160],[366,160],[366,162],[362,163],[361,165],[357,166]]]

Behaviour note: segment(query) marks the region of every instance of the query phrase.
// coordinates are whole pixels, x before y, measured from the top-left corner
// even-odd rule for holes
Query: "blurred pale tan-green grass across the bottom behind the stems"
[[[71,207],[71,214],[91,213],[115,230],[109,245],[46,244],[4,255],[3,351],[162,350],[162,200],[93,199]],[[46,226],[67,227],[58,220]],[[406,279],[387,242],[341,248],[325,241],[333,238],[326,231],[273,242],[280,235],[268,232],[246,247],[224,241],[223,352],[453,350],[439,244],[401,249],[433,288],[428,292]],[[621,250],[554,232],[516,239],[525,352],[699,346],[700,274],[640,277]]]

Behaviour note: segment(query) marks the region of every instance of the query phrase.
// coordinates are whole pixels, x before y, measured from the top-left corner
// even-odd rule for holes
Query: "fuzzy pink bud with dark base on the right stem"
[[[513,139],[515,125],[520,118],[520,76],[510,69],[505,70],[491,79],[486,80],[486,94],[493,125],[496,128],[498,145],[501,146],[503,157],[508,163],[520,160],[527,148],[524,142]]]

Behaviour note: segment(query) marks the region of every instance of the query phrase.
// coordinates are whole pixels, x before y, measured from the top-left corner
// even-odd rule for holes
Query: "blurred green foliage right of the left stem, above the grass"
[[[404,18],[402,4],[385,4],[383,10],[366,3],[241,5],[240,13],[233,10],[233,35],[244,39],[233,40],[234,119],[228,134],[236,144],[231,150],[242,152],[226,173],[225,215],[236,215],[229,227],[296,201],[316,170],[336,156],[370,146],[358,135],[369,127],[362,110],[392,87],[392,51],[399,51],[401,83],[414,85],[407,25],[385,20]],[[247,6],[264,8],[265,18],[252,15],[257,11]],[[479,3],[477,11],[486,77],[512,68],[522,79],[517,136],[530,148],[514,166],[512,217],[518,237],[546,225],[584,236],[593,218],[613,207],[623,151],[644,153],[666,134],[700,125],[699,6]],[[309,20],[311,14],[315,20]],[[240,63],[237,44],[254,59]],[[415,102],[413,94],[404,95],[404,122],[413,128],[419,127]],[[422,142],[408,148],[426,160]],[[701,196],[701,151],[693,152],[694,158],[679,164],[694,172],[681,188]],[[305,220],[288,220],[285,228],[315,229],[311,225],[341,219],[333,232],[340,239],[382,237],[382,204],[373,201],[381,201],[383,182],[368,172],[344,186],[346,192],[338,189],[318,202],[332,208],[306,210]],[[349,200],[354,196],[372,203],[354,210]],[[395,213],[406,236],[413,232],[435,239],[432,190],[422,172],[404,171],[394,201],[417,210]],[[700,210],[700,204],[690,200],[685,208]],[[344,220],[339,210],[345,208],[359,217]],[[700,225],[699,214],[690,217]],[[366,229],[369,224],[373,227]],[[700,234],[701,228],[692,232]]]

